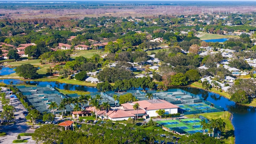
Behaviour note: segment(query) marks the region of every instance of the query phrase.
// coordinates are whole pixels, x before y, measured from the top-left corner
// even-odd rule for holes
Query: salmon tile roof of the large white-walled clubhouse
[[[178,106],[171,104],[165,100],[141,100],[137,102],[132,102],[134,104],[138,103],[141,108],[145,110],[159,110],[167,108],[179,108]]]

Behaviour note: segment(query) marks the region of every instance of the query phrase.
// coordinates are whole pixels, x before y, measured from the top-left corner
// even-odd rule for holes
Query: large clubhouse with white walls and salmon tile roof
[[[128,104],[121,104],[126,110],[133,110],[133,105],[138,103],[140,108],[148,114],[149,117],[158,116],[157,110],[165,110],[165,114],[176,114],[178,113],[178,106],[171,104],[165,100],[141,100],[137,102],[132,102]]]

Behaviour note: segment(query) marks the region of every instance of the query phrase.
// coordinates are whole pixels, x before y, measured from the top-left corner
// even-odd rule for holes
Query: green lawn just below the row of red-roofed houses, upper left
[[[104,50],[75,50],[74,54],[77,54],[75,56],[71,56],[71,58],[75,58],[77,56],[83,56],[85,58],[92,58],[94,54],[98,54],[102,56],[103,54],[106,54]]]

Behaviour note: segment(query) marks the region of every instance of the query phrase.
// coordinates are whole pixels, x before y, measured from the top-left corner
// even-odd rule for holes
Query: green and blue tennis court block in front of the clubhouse
[[[179,120],[161,120],[156,121],[158,124],[168,128],[169,130],[183,130],[188,134],[194,134],[196,132],[203,132],[202,127],[200,127],[201,120],[199,118],[186,118]],[[205,130],[208,132],[208,130]]]

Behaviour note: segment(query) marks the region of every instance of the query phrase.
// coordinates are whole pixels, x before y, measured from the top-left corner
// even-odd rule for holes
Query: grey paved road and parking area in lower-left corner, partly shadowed
[[[22,114],[23,111],[26,111],[24,106],[17,98],[10,98],[10,100],[10,104],[14,106],[16,110],[16,112],[14,112],[14,124],[0,126],[0,130],[7,134],[6,136],[0,137],[0,144],[11,144],[13,140],[17,139],[19,133],[34,132],[34,130],[30,130],[31,126],[25,123],[27,120]],[[0,108],[0,110],[2,110],[2,108]],[[21,118],[21,120],[18,120],[18,118]],[[22,136],[21,139],[28,140],[27,144],[36,144],[36,141],[32,140],[31,136]]]

